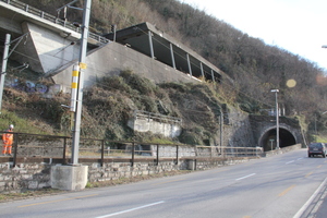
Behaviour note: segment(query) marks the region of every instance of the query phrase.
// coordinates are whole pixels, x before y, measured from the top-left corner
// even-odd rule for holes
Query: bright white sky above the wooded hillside
[[[180,0],[327,71],[327,0]]]

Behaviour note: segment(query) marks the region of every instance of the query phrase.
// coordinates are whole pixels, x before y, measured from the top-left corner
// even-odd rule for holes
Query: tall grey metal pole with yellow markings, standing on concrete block
[[[84,10],[83,10],[82,37],[81,37],[81,49],[80,49],[80,59],[78,59],[80,73],[78,73],[78,85],[77,85],[77,101],[76,101],[76,112],[74,116],[74,128],[73,128],[73,146],[72,146],[72,162],[71,162],[72,165],[78,164],[82,100],[83,100],[83,85],[84,85],[83,83],[84,83],[84,70],[86,69],[85,59],[86,59],[86,50],[87,50],[90,2],[92,0],[85,0]]]

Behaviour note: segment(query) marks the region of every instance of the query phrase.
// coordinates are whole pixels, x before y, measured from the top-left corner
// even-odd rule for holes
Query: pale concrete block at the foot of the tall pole
[[[87,183],[87,166],[52,166],[50,182],[52,189],[78,191]]]

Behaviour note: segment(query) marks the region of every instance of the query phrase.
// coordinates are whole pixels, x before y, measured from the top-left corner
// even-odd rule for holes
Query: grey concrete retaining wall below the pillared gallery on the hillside
[[[85,87],[94,85],[102,76],[118,75],[123,70],[132,70],[154,83],[199,83],[189,74],[113,41],[88,53],[86,64]],[[62,85],[63,92],[70,92],[71,80],[68,78],[72,77],[72,66],[66,68],[52,76],[55,83]]]

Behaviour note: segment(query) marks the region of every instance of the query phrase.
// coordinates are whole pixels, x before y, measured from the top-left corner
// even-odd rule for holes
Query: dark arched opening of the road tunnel
[[[276,129],[267,131],[261,138],[259,146],[264,148],[264,152],[268,152],[276,148]],[[287,147],[290,145],[295,145],[295,137],[288,130],[279,129],[279,146]]]

